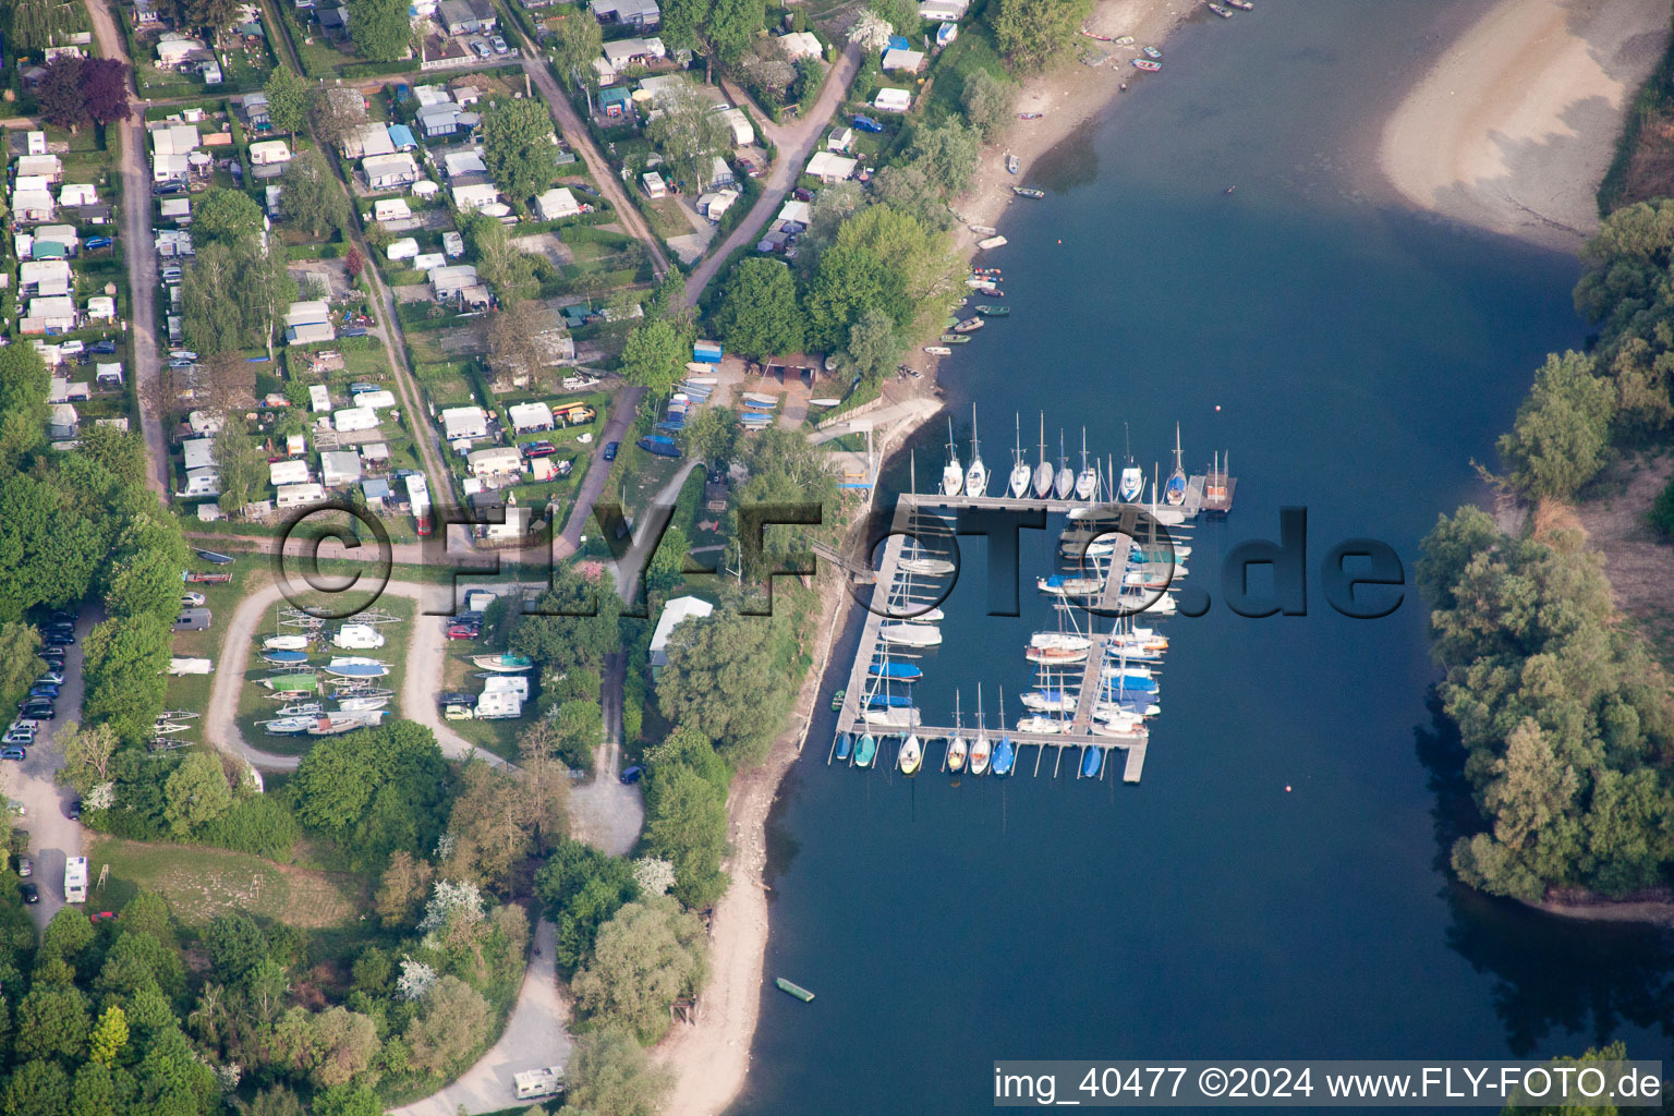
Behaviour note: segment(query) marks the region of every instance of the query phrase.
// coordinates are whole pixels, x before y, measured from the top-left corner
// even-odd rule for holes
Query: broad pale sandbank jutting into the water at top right
[[[1667,35],[1656,0],[1500,0],[1389,117],[1383,172],[1415,206],[1577,251]]]

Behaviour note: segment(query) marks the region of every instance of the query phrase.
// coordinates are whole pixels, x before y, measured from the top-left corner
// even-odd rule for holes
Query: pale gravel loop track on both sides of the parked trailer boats
[[[439,592],[437,586],[420,586],[415,582],[392,581],[385,592],[407,597],[410,601],[430,601]],[[264,627],[268,609],[283,599],[278,586],[268,586],[238,604],[233,622],[228,627],[226,642],[221,644],[221,661],[214,664],[214,686],[209,691],[209,709],[204,714],[206,736],[221,751],[233,753],[258,768],[270,771],[295,771],[301,763],[300,756],[281,756],[261,751],[244,743],[238,731],[238,701],[244,681],[244,668],[249,664],[249,649],[256,631]],[[435,704],[435,696],[442,693],[442,664],[445,658],[445,636],[440,616],[415,616],[417,624],[407,641],[407,674],[402,684],[400,708],[408,719],[418,721],[442,745],[442,753],[450,760],[464,760],[475,753],[490,765],[509,766],[489,751],[479,751],[475,745],[455,733],[442,719]]]

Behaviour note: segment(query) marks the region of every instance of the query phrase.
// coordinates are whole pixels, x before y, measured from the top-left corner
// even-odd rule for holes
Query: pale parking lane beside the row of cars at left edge
[[[64,862],[82,855],[82,827],[65,815],[75,791],[54,781],[64,766],[64,748],[57,738],[70,723],[82,719],[82,644],[94,624],[104,619],[102,607],[82,612],[75,621],[75,646],[64,656],[64,686],[59,688],[55,721],[47,721],[49,731],[37,736],[28,750],[28,760],[8,766],[7,795],[23,803],[23,828],[30,835],[30,857],[35,862],[35,883],[40,902],[30,907],[37,925],[52,922],[64,905]],[[92,883],[92,880],[89,880]]]

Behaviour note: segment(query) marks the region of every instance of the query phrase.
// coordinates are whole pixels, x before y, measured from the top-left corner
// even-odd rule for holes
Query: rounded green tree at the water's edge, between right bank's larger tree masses
[[[1547,356],[1512,433],[1500,437],[1512,482],[1530,495],[1574,495],[1604,467],[1612,412],[1610,385],[1592,373],[1592,358]]]

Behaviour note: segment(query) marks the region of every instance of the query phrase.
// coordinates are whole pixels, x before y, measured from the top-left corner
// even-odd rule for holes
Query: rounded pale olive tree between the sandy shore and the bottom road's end
[[[705,975],[703,924],[655,895],[618,910],[599,929],[593,960],[571,989],[599,1024],[628,1027],[646,1044],[668,1031],[668,1009]]]

